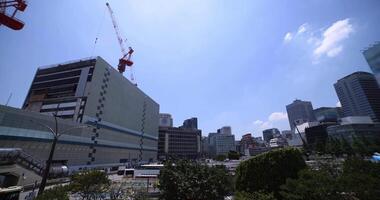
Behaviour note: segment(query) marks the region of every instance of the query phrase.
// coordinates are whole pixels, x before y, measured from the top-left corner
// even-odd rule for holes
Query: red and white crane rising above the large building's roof
[[[117,41],[119,42],[119,45],[121,48],[122,57],[119,59],[119,64],[117,66],[117,69],[122,74],[125,71],[126,66],[132,67],[132,65],[133,65],[133,62],[131,60],[133,49],[131,47],[128,47],[128,52],[127,52],[126,48],[124,47],[124,40],[120,35],[119,26],[117,25],[117,21],[116,21],[116,18],[114,16],[114,12],[112,11],[109,3],[106,3],[106,6],[108,7],[108,11],[111,15],[112,24],[113,24],[113,27],[115,29],[116,36],[117,36]],[[131,81],[134,82],[132,70],[131,70]]]

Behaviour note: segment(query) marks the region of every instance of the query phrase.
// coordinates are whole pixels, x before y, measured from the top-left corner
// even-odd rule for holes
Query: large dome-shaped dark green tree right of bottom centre
[[[298,149],[273,150],[243,161],[236,169],[236,189],[248,193],[264,191],[278,196],[287,178],[296,178],[306,167]]]

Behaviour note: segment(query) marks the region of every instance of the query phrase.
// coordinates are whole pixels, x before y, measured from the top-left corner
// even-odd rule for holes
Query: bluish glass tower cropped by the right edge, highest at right
[[[380,42],[364,50],[363,55],[380,85]]]

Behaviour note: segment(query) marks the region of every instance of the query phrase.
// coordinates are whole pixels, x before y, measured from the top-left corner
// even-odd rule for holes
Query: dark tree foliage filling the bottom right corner
[[[293,200],[375,200],[380,199],[380,164],[358,158],[344,162],[343,170],[305,169],[298,179],[288,179],[281,187],[283,199]]]

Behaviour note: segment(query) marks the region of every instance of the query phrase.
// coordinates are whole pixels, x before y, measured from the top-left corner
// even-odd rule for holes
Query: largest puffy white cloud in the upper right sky
[[[322,55],[337,56],[343,50],[341,42],[347,39],[352,32],[354,32],[354,28],[348,18],[336,21],[323,32],[322,42],[314,49],[314,56],[316,58]]]

